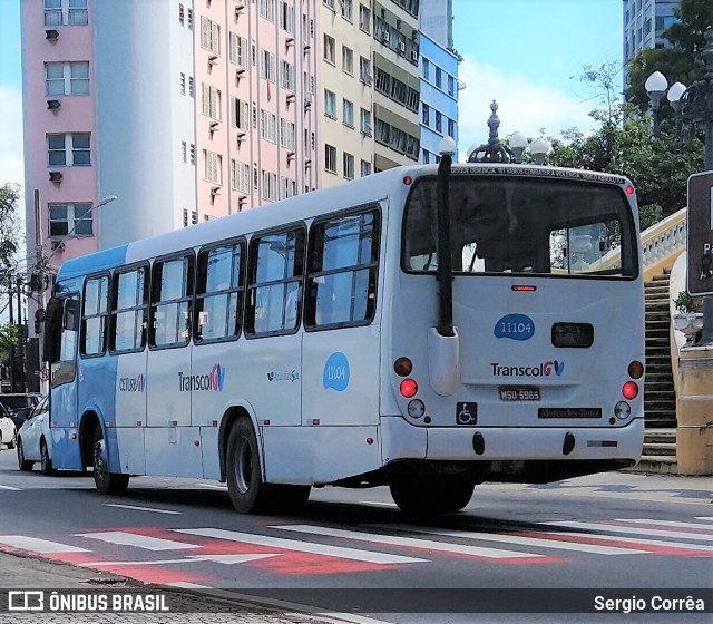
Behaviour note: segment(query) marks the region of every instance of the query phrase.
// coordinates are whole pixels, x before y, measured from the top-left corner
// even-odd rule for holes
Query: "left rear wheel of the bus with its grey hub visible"
[[[257,437],[245,418],[236,422],[227,440],[227,491],[241,514],[260,511],[270,495],[270,488],[263,484]]]

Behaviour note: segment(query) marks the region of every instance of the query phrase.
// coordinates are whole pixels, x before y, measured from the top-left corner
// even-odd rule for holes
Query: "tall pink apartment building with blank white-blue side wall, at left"
[[[23,1],[30,253],[59,264],[316,188],[316,1]]]

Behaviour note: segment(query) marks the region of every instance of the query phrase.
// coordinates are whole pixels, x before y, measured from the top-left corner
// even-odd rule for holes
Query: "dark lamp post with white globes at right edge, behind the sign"
[[[695,129],[704,134],[704,160],[703,168],[713,170],[713,28],[709,26],[704,32],[705,46],[701,50],[701,59],[705,67],[702,80],[696,80],[690,87],[681,82],[674,82],[668,87],[668,81],[661,71],[654,71],[645,82],[646,91],[654,110],[654,135],[658,136],[661,124],[656,120],[656,110],[666,94],[666,98],[675,114],[675,127],[678,139],[690,140]],[[691,227],[704,227],[704,224],[687,224]],[[692,250],[687,250],[688,253]],[[703,330],[701,347],[713,345],[713,296],[703,298]]]

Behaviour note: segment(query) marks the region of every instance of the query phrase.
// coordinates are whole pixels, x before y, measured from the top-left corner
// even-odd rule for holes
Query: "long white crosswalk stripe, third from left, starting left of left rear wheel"
[[[342,548],[339,546],[326,546],[324,544],[313,544],[299,542],[296,539],[283,539],[281,537],[268,537],[253,533],[241,533],[236,530],[225,530],[221,528],[182,528],[174,529],[176,533],[197,535],[201,537],[214,537],[216,539],[227,539],[229,542],[244,542],[256,546],[267,546],[272,548],[284,548],[285,550],[296,550],[311,553],[313,555],[326,555],[356,562],[368,562],[372,564],[412,564],[427,559],[416,557],[403,557],[401,555],[389,555],[387,553],[374,553],[371,550],[360,550],[355,548]]]

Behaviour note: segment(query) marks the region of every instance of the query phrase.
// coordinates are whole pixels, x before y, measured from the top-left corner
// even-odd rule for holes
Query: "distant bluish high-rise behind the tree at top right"
[[[624,88],[628,85],[628,62],[642,50],[667,45],[662,32],[676,21],[678,0],[623,0]]]

